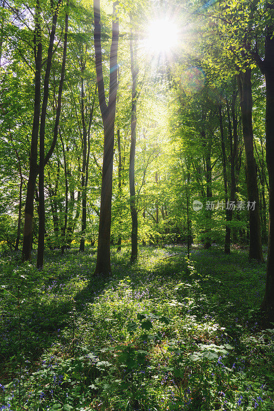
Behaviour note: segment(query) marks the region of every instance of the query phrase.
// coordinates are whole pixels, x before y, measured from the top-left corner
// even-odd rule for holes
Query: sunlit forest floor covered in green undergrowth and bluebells
[[[0,410],[273,411],[266,267],[245,251],[147,247],[130,266],[113,249],[107,281],[93,250],[51,252],[42,272],[14,261],[0,263]]]

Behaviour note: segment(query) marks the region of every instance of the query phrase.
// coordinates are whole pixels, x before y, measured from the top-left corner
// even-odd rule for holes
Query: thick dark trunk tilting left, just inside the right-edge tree
[[[253,152],[252,89],[251,70],[246,69],[237,76],[242,111],[243,138],[246,156],[246,185],[249,207],[249,259],[263,261],[261,223],[259,212],[259,192],[256,162]],[[251,204],[255,204],[254,210]]]

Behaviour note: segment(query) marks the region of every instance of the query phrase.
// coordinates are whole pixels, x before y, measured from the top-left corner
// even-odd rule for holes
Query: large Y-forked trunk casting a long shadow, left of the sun
[[[110,265],[110,228],[111,228],[111,198],[112,198],[112,170],[114,148],[114,121],[117,98],[117,53],[119,40],[119,20],[116,17],[116,2],[113,3],[112,41],[110,47],[110,78],[109,101],[106,104],[105,86],[102,67],[101,45],[101,12],[100,0],[94,0],[94,48],[95,68],[100,110],[104,125],[104,154],[102,167],[101,207],[99,219],[97,260],[94,275],[108,277],[111,275]]]

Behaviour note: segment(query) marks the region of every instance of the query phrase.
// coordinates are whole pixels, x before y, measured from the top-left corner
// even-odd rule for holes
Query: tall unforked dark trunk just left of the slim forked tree
[[[42,32],[40,25],[40,0],[36,0],[35,7],[35,29],[34,29],[34,54],[35,54],[35,77],[34,77],[34,113],[30,146],[30,166],[27,183],[27,195],[25,204],[24,236],[22,246],[22,260],[31,259],[32,229],[33,229],[33,201],[35,194],[35,183],[37,177],[37,144],[40,122],[41,103],[41,67],[42,67]]]

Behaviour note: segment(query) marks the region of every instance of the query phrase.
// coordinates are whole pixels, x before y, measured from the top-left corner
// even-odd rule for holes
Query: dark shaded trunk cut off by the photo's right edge
[[[266,83],[266,164],[269,178],[269,234],[265,295],[262,309],[274,320],[274,39],[268,28],[265,42],[264,73]]]

